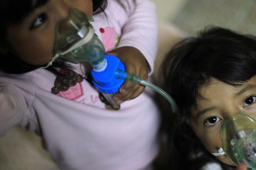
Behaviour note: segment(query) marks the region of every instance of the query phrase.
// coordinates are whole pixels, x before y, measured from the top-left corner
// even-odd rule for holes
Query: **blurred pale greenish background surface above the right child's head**
[[[208,25],[256,35],[256,0],[152,0],[160,21],[188,34]]]

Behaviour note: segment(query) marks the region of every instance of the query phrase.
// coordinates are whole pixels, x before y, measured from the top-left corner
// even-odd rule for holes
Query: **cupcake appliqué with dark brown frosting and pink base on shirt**
[[[69,100],[76,100],[83,96],[84,91],[81,85],[83,76],[72,70],[60,69],[60,73],[61,76],[57,76],[51,92]]]

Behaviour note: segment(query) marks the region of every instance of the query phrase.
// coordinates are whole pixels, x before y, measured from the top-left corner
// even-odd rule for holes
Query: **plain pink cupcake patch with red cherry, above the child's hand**
[[[114,27],[99,28],[99,31],[102,34],[102,42],[104,44],[105,51],[108,52],[116,49],[116,46],[119,43],[119,37]]]

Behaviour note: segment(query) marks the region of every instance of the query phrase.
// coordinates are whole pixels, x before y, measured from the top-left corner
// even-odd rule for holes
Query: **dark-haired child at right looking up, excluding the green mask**
[[[255,47],[255,36],[210,27],[185,38],[166,56],[163,89],[178,107],[174,114],[166,110],[164,118],[170,169],[235,169],[239,162],[230,161],[235,154],[224,148],[231,140],[223,140],[223,126],[238,113],[256,118]],[[245,164],[237,169],[245,170]]]

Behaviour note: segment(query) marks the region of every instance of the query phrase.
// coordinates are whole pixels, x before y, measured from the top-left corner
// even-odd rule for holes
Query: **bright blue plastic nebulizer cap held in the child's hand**
[[[99,92],[105,94],[114,94],[119,91],[120,86],[125,81],[124,79],[115,78],[117,69],[125,71],[123,63],[114,55],[105,55],[107,60],[107,68],[102,72],[94,72],[91,70],[93,84]]]

